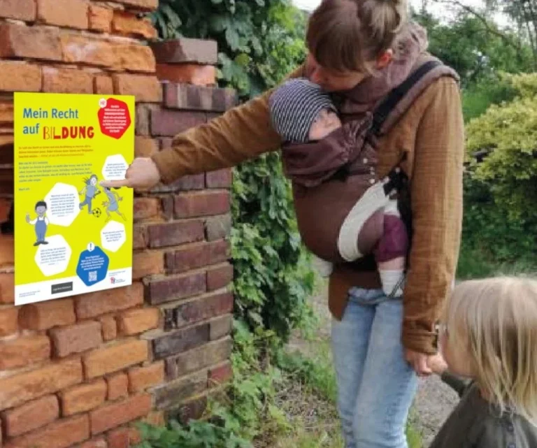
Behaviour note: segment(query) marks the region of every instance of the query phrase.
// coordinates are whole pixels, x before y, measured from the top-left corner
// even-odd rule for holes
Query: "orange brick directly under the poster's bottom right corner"
[[[78,296],[75,302],[78,319],[92,319],[109,312],[126,310],[143,303],[143,286],[133,283],[128,287],[108,289]]]

